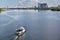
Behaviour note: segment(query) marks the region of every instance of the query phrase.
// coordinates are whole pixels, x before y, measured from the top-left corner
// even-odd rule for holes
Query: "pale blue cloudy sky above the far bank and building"
[[[59,0],[0,0],[0,7],[7,6],[34,6],[39,3],[47,3],[48,6],[57,6],[60,4]]]

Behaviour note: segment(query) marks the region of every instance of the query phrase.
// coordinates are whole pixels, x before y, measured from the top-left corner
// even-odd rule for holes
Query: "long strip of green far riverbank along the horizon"
[[[60,7],[48,7],[48,8],[0,8],[0,12],[5,10],[51,10],[51,11],[60,11]]]

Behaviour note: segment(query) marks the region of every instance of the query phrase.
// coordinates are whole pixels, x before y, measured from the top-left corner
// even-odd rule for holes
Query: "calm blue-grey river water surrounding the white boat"
[[[16,28],[25,26],[21,40],[60,40],[60,12],[10,10],[0,14],[0,40],[12,40]]]

